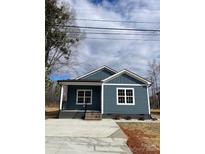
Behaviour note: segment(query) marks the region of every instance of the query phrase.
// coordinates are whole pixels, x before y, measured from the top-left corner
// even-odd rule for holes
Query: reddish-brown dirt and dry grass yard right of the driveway
[[[160,123],[119,122],[128,136],[128,146],[133,154],[160,153]]]

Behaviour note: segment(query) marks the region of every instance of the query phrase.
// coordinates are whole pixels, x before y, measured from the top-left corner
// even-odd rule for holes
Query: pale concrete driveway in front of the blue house
[[[127,137],[112,119],[46,120],[46,154],[129,154]]]

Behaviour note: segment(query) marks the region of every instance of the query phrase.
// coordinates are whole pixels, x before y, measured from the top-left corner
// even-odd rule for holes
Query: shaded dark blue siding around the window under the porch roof
[[[77,89],[92,89],[92,105],[87,105],[88,110],[101,109],[101,87],[100,86],[68,86],[68,99],[64,105],[67,110],[84,110],[83,105],[76,105]]]

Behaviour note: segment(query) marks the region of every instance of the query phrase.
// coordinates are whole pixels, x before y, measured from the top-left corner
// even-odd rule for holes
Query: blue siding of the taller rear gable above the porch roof
[[[111,75],[113,75],[114,73],[111,73],[110,71],[103,69],[103,70],[99,70],[97,72],[95,72],[92,75],[89,76],[85,76],[83,78],[81,78],[80,80],[103,80]]]

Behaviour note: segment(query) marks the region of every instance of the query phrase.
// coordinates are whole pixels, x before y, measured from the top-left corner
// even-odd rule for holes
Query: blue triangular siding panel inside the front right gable
[[[122,74],[110,81],[108,83],[128,83],[128,84],[144,84],[143,82],[136,80],[126,74]]]

